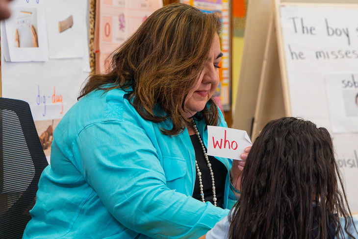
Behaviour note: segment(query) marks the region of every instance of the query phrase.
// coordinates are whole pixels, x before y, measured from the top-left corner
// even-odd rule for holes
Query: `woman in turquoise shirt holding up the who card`
[[[54,131],[25,239],[197,238],[228,215],[243,164],[205,151],[206,125],[226,126],[219,31],[214,14],[165,6],[89,78]]]

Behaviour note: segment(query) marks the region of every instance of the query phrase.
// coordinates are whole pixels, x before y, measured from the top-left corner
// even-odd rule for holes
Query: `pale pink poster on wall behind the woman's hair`
[[[96,72],[106,71],[108,55],[124,43],[149,15],[163,6],[162,0],[96,1]]]

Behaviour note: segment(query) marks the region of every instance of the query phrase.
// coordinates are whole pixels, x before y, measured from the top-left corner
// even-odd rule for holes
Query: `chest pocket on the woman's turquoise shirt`
[[[163,157],[163,168],[165,177],[167,179],[167,186],[170,189],[174,189],[181,193],[186,193],[186,191],[191,187],[189,181],[185,179],[187,174],[186,160],[179,157]],[[188,184],[188,185],[186,185]]]

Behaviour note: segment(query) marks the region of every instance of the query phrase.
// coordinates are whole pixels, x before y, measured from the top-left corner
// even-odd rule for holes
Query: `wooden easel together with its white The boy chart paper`
[[[348,202],[358,210],[358,0],[274,0],[252,139],[271,119],[327,128]]]

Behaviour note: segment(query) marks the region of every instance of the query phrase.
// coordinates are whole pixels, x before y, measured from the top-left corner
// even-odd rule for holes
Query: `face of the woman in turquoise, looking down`
[[[218,34],[215,34],[211,44],[207,62],[200,73],[196,85],[189,91],[184,101],[184,112],[187,118],[202,111],[206,102],[214,94],[219,85],[219,63],[222,57]]]

